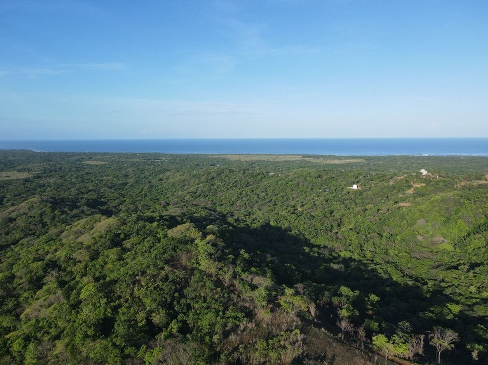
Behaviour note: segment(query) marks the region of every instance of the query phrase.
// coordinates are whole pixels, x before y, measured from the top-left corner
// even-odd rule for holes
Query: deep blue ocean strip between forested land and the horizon
[[[488,155],[488,138],[250,138],[0,141],[1,150],[166,154]]]

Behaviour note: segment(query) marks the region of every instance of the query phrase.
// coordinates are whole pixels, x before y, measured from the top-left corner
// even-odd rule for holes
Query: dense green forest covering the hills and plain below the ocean
[[[487,246],[488,157],[0,151],[0,363],[488,364]]]

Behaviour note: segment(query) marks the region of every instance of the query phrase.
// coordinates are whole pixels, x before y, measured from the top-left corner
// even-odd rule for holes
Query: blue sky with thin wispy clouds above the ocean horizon
[[[486,0],[0,0],[0,139],[488,137]]]

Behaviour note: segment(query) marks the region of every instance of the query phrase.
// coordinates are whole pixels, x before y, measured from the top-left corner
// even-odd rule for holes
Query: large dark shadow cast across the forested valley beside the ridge
[[[220,235],[238,261],[245,251],[249,267],[258,272],[271,273],[275,284],[295,288],[307,295],[317,303],[318,314],[314,321],[305,322],[312,327],[324,328],[334,335],[338,335],[340,330],[336,325],[337,307],[332,302],[337,290],[343,286],[359,291],[353,303],[357,310],[357,314],[352,316],[354,324],[361,326],[365,320],[379,324],[376,331],[366,329],[369,336],[376,333],[391,336],[398,328],[397,324],[402,321],[411,325],[413,333],[426,335],[425,356],[416,358],[416,362],[420,364],[435,363],[435,349],[428,344],[428,333],[433,326],[441,325],[460,330],[467,324],[481,324],[478,318],[467,313],[464,313],[462,319],[444,319],[440,322],[432,308],[445,303],[457,304],[455,299],[442,292],[442,288],[433,288],[426,292],[415,281],[408,284],[398,283],[368,267],[365,262],[341,257],[334,250],[314,245],[305,237],[294,235],[281,227],[265,224],[251,228],[239,221],[229,224],[225,216],[218,214],[212,214],[211,217],[190,217],[189,220],[201,229],[209,224],[223,227]],[[172,223],[176,224],[176,220]],[[367,305],[367,296],[370,293],[380,298],[374,307]],[[349,340],[346,341],[348,345],[354,343],[352,338],[346,337],[346,340]],[[453,350],[443,355],[443,364],[472,362],[459,347],[461,344],[458,343]],[[385,363],[384,359],[370,357],[369,360]],[[329,364],[334,364],[332,358],[328,361]]]

